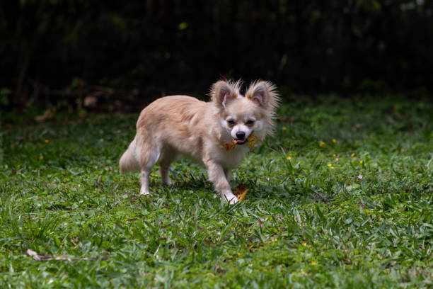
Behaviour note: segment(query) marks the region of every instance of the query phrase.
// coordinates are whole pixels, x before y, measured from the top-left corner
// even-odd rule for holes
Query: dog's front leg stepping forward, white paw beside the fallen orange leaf
[[[208,159],[204,161],[204,165],[207,168],[209,180],[214,183],[214,187],[219,193],[219,196],[224,198],[224,200],[228,200],[231,204],[238,203],[238,198],[231,193],[230,183],[226,179],[226,174],[224,174],[224,169],[221,164]]]

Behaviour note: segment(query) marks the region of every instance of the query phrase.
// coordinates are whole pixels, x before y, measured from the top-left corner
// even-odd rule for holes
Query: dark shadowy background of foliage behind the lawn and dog
[[[432,14],[422,0],[3,1],[0,107],[137,111],[204,98],[222,77],[270,80],[284,97],[424,97]]]

